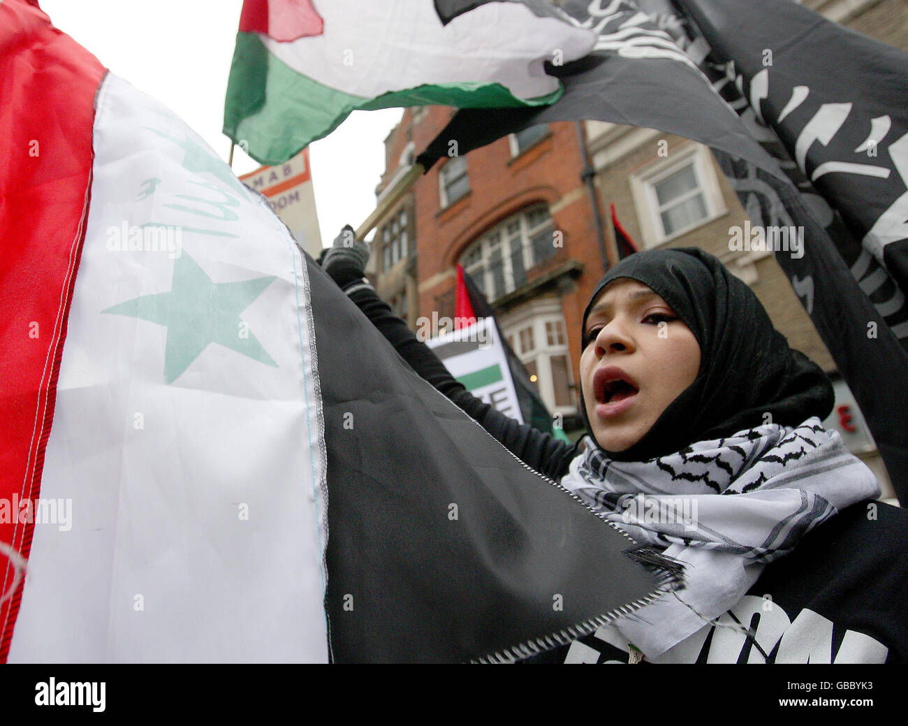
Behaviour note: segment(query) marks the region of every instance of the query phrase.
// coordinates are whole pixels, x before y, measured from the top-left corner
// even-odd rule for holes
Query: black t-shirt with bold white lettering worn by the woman
[[[908,512],[854,504],[804,536],[716,625],[656,663],[908,661]],[[612,626],[522,662],[627,662]],[[644,659],[643,662],[647,662]]]

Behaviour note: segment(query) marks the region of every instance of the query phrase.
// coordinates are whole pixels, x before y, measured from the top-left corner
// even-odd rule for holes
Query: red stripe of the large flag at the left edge
[[[0,5],[0,662],[22,600],[66,318],[85,234],[104,66],[27,0]],[[23,512],[25,513],[25,512]]]

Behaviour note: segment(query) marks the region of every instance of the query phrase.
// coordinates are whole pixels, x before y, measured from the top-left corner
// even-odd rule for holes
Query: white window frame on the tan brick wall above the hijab
[[[666,234],[659,214],[656,184],[692,164],[698,188],[703,193],[706,203],[706,217],[697,220],[694,224],[688,224],[672,234]],[[649,164],[639,173],[632,174],[630,189],[634,197],[634,205],[637,208],[643,246],[647,249],[671,242],[676,237],[688,234],[723,214],[727,214],[722,188],[719,186],[716,168],[713,165],[713,157],[703,144],[685,144],[681,148],[673,149],[665,159],[660,159],[654,164]]]

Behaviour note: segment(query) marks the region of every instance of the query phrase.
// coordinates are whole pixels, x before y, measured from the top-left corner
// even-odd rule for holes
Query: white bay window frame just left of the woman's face
[[[558,322],[565,335],[564,344],[548,344],[546,323]],[[561,413],[568,416],[577,413],[577,406],[573,403],[567,406],[555,405],[555,386],[552,379],[551,359],[557,355],[568,356],[568,389],[571,399],[576,399],[576,385],[574,381],[574,360],[568,346],[568,325],[565,323],[564,313],[561,310],[561,301],[557,297],[538,298],[521,305],[516,311],[500,315],[498,324],[504,338],[512,338],[514,354],[525,365],[530,361],[536,362],[538,375],[537,387],[542,403],[546,404],[549,413]],[[535,348],[529,353],[521,352],[520,331],[528,327],[533,328],[533,341]],[[515,347],[516,346],[516,347]]]

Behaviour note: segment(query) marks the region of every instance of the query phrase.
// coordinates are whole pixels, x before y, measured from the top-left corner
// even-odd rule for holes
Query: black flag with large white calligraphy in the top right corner
[[[908,343],[908,307],[897,292],[908,289],[908,54],[791,0],[676,5],[690,21],[688,36],[710,47],[702,67],[717,90],[780,160],[818,220],[836,236],[841,220],[860,241],[840,245],[845,262],[872,272],[858,259],[864,252],[883,264],[897,287],[887,285],[878,302]],[[883,283],[862,286],[875,293]]]

